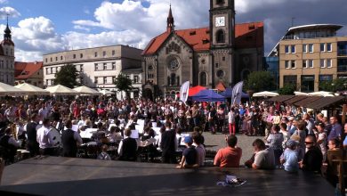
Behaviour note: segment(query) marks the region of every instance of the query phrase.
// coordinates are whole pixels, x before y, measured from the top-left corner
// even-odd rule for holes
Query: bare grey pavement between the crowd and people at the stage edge
[[[223,134],[216,134],[211,135],[211,133],[204,133],[205,137],[205,144],[206,144],[206,150],[212,150],[212,151],[218,151],[221,148],[224,148],[227,146],[225,142],[225,135]],[[255,139],[260,138],[262,139],[262,136],[247,136],[247,135],[241,135],[237,134],[238,137],[238,147],[242,149],[242,157],[240,160],[240,164],[243,165],[247,159],[250,159],[253,155],[253,147],[252,143]]]

